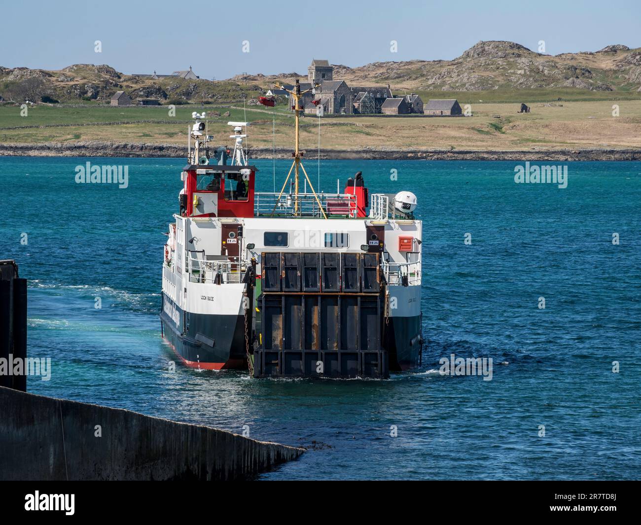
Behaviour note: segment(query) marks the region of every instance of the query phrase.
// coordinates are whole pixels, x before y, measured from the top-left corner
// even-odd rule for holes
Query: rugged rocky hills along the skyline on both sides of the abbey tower
[[[10,101],[106,104],[116,91],[163,103],[224,103],[256,99],[274,81],[296,73],[255,74],[222,81],[151,79],[126,75],[109,65],[74,64],[60,71],[0,67],[0,97]],[[334,66],[334,78],[349,85],[387,85],[397,94],[462,103],[641,99],[641,48],[608,46],[600,51],[551,56],[514,42],[479,42],[453,60],[375,62]]]

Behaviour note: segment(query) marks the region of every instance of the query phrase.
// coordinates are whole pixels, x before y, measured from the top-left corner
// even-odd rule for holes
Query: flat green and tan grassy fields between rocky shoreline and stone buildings
[[[529,101],[528,101],[529,102]],[[472,117],[332,117],[320,119],[322,149],[360,151],[373,149],[590,149],[641,148],[641,101],[619,101],[619,117],[612,116],[611,101],[530,103],[531,113],[518,113],[516,103],[472,103]],[[176,117],[166,107],[64,108],[35,106],[20,117],[18,106],[0,106],[0,142],[146,142],[185,144],[187,122],[198,106],[178,106]],[[294,144],[292,114],[237,104],[205,106],[212,118],[209,132],[216,144],[231,145],[230,120],[251,122],[251,147],[289,149]],[[229,117],[222,115],[230,112]],[[215,117],[213,112],[221,113]],[[142,122],[152,120],[154,122]],[[79,125],[80,122],[92,125]],[[129,122],[127,124],[111,124]],[[60,126],[62,124],[62,126]],[[7,129],[21,126],[19,129]],[[31,127],[33,126],[33,127]],[[42,126],[42,127],[40,127]],[[301,142],[315,151],[319,119],[301,120]]]

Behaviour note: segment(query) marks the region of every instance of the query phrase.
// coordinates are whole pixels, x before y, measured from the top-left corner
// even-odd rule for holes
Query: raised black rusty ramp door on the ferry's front
[[[263,253],[254,377],[387,378],[378,253]]]

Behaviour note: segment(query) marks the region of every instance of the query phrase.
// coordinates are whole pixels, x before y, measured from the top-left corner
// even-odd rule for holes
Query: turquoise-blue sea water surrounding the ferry
[[[129,166],[118,189],[76,184],[86,161],[0,158],[0,258],[30,280],[29,353],[53,367],[31,392],[310,447],[262,479],[639,478],[641,163],[569,163],[560,189],[515,184],[513,162],[322,162],[326,191],[362,170],[417,194],[427,344],[388,381],[308,381],[169,372],[160,265],[185,162],[91,159]],[[451,353],[492,358],[492,380],[440,376]]]

